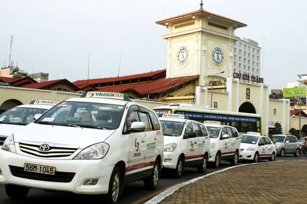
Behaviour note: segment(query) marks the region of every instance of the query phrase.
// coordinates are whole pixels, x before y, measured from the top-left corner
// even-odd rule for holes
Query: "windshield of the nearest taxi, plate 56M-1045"
[[[125,108],[122,105],[93,102],[61,102],[36,123],[114,130]]]

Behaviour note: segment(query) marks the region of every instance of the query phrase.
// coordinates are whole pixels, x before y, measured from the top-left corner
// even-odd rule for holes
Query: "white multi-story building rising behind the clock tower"
[[[261,77],[261,48],[254,40],[241,37],[234,42],[233,72]]]

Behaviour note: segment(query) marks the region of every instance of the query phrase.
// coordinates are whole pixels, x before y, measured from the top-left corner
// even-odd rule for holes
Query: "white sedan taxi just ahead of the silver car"
[[[257,163],[260,159],[275,161],[276,145],[260,133],[248,132],[241,136],[241,152],[239,159],[252,160]]]

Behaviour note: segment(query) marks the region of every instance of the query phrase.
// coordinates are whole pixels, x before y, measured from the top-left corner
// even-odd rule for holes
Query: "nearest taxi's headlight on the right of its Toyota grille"
[[[98,143],[85,148],[73,159],[101,159],[107,154],[108,150],[109,145],[107,143]]]

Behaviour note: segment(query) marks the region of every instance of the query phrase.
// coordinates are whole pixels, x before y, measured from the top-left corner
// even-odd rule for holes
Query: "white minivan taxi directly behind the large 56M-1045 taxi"
[[[164,135],[163,167],[179,178],[184,167],[196,167],[204,173],[210,156],[210,138],[206,127],[180,114],[163,114],[159,118]]]

